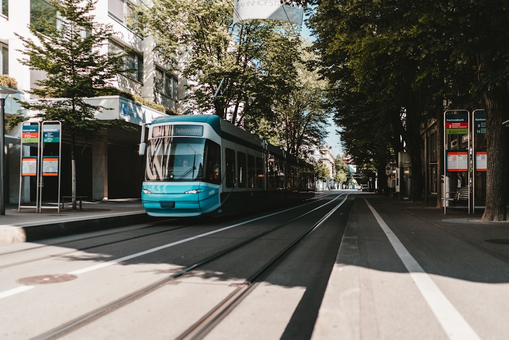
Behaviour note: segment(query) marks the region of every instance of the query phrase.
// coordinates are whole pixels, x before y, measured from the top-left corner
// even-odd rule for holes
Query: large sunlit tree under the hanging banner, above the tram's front
[[[144,32],[154,38],[158,56],[192,84],[185,98],[191,111],[229,114],[236,125],[254,114],[271,120],[273,91],[285,85],[278,67],[292,58],[296,45],[288,24],[249,20],[234,26],[232,3],[225,0],[155,0],[142,11]]]

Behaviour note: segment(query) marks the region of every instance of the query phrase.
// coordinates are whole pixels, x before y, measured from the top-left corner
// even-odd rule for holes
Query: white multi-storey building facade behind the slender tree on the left
[[[33,89],[36,81],[43,79],[44,73],[31,70],[22,65],[19,59],[25,58],[23,42],[16,37],[31,37],[29,24],[31,13],[51,13],[51,5],[45,0],[1,0],[0,13],[0,57],[2,59],[0,74],[7,74],[17,82],[17,89],[10,88],[14,94],[6,99],[5,114],[15,114],[20,110],[14,98],[30,100],[28,91]],[[86,1],[86,0],[85,0]],[[115,35],[104,44],[103,53],[108,51],[128,51],[125,58],[126,68],[135,71],[119,75],[112,84],[118,89],[143,97],[145,100],[162,104],[166,111],[177,114],[186,113],[187,107],[181,100],[186,93],[186,81],[178,72],[169,71],[154,53],[154,41],[150,37],[140,37],[129,29],[126,22],[128,13],[136,6],[151,5],[150,1],[142,4],[127,0],[97,0],[93,15],[98,23],[111,24]],[[37,12],[39,11],[39,12]],[[5,88],[5,87],[3,87]],[[4,95],[5,97],[5,95]],[[100,120],[122,119],[127,124],[137,127],[150,123],[153,118],[166,113],[154,110],[133,100],[121,96],[96,97],[89,99],[93,104],[100,104],[111,110],[98,112]],[[31,116],[32,112],[23,112]],[[20,156],[31,150],[20,147],[21,127],[6,132],[8,202],[27,202],[34,200],[34,180],[20,175]],[[60,195],[70,194],[70,146],[63,136],[62,148],[62,189]],[[100,200],[108,198],[137,198],[143,180],[143,160],[137,155],[139,132],[108,130],[104,132],[105,141],[83,142],[79,159],[76,160],[77,195]],[[23,147],[24,148],[24,147]],[[21,183],[21,190],[20,188]],[[21,195],[19,194],[21,192]],[[46,199],[58,198],[54,190],[45,189]],[[45,199],[43,197],[43,199]]]

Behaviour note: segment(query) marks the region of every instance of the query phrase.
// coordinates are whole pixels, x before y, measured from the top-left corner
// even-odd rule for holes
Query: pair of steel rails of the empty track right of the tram
[[[78,318],[75,318],[65,324],[60,325],[59,327],[53,328],[52,330],[45,332],[43,334],[40,334],[35,339],[56,339],[60,338],[64,335],[70,334],[73,331],[86,326],[88,324],[93,323],[95,320],[98,320],[102,317],[105,317],[109,313],[128,305],[156,290],[158,290],[160,287],[166,285],[167,283],[176,280],[178,278],[183,277],[186,274],[191,273],[192,271],[206,265],[210,264],[213,261],[233,253],[234,251],[240,249],[241,247],[248,245],[254,241],[260,240],[267,234],[280,229],[283,226],[286,226],[300,218],[302,218],[305,215],[308,215],[310,213],[313,213],[315,211],[318,211],[320,208],[331,204],[334,202],[337,198],[342,197],[337,196],[333,200],[326,202],[318,207],[313,208],[312,210],[299,215],[296,218],[293,218],[289,221],[285,221],[283,223],[279,223],[276,226],[271,227],[268,230],[265,230],[262,233],[257,233],[256,235],[243,240],[240,243],[237,243],[235,245],[232,245],[228,248],[222,249],[220,251],[215,252],[212,255],[209,255],[205,257],[204,259],[200,261],[196,261],[194,264],[189,265],[178,272],[169,275],[163,279],[160,279],[152,284],[149,284],[145,287],[142,287],[141,289],[138,289],[130,294],[124,295],[123,297],[116,299],[115,301],[112,301],[110,303],[107,303],[99,308],[96,308],[90,312],[84,313],[83,315],[79,316]],[[178,339],[201,339],[203,336],[205,336],[210,330],[212,330],[217,323],[222,320],[225,316],[230,313],[235,306],[244,298],[246,297],[253,289],[256,287],[257,283],[270,271],[272,271],[274,268],[277,267],[277,264],[284,259],[293,249],[295,249],[303,239],[305,239],[310,233],[312,233],[314,230],[320,227],[348,198],[348,195],[345,195],[343,200],[337,204],[332,210],[330,210],[327,214],[325,214],[323,217],[320,218],[319,221],[313,224],[312,227],[309,227],[305,232],[301,233],[300,236],[295,238],[289,245],[287,245],[284,249],[279,251],[275,256],[273,256],[270,260],[266,261],[266,263],[259,269],[257,269],[254,273],[252,273],[242,284],[239,284],[237,289],[230,294],[229,296],[225,297],[220,303],[218,303],[215,307],[213,307],[209,312],[205,313],[205,315],[197,321],[195,324],[191,325],[186,331],[184,331]],[[316,202],[316,201],[315,201]],[[294,207],[296,208],[296,207]],[[285,211],[283,211],[285,212]],[[269,214],[266,216],[262,216],[259,218],[256,218],[254,220],[259,220],[263,218],[267,218],[276,214],[280,214],[282,212],[277,212],[273,214]],[[250,220],[253,221],[253,220]]]

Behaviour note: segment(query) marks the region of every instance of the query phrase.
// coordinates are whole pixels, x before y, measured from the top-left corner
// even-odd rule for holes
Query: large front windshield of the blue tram
[[[205,138],[164,137],[150,140],[147,180],[221,181],[220,147]]]

